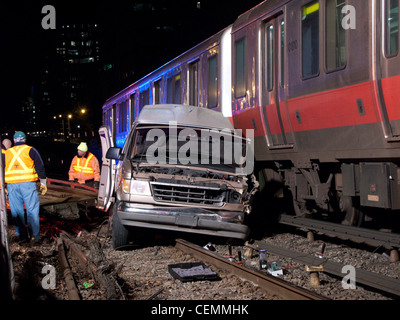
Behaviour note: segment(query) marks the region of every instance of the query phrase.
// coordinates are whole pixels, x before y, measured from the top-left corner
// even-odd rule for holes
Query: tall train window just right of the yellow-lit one
[[[346,30],[342,28],[345,0],[326,1],[326,70],[346,65]]]

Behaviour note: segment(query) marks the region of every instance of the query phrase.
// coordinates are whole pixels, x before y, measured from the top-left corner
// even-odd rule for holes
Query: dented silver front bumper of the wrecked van
[[[244,213],[202,208],[163,207],[119,202],[118,218],[124,226],[174,230],[245,240],[249,228],[242,224]]]

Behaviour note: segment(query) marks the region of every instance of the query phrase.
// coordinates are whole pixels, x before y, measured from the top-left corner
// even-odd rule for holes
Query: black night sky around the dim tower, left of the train
[[[100,61],[87,72],[78,97],[88,109],[87,121],[97,131],[104,101],[142,76],[232,24],[261,0],[32,1],[2,4],[0,131],[50,130],[53,114],[70,112],[59,94],[68,76],[56,48],[62,25],[96,23]],[[56,30],[44,30],[45,5],[56,9]],[[112,65],[105,71],[106,65]],[[44,70],[50,68],[51,101],[42,105]],[[47,69],[46,69],[47,70]],[[55,88],[54,88],[55,87]],[[46,89],[47,90],[47,89]],[[29,124],[30,103],[37,121]],[[29,124],[29,125],[28,125]],[[59,126],[59,124],[57,124]],[[54,127],[54,124],[53,124]],[[58,128],[53,128],[58,129]]]

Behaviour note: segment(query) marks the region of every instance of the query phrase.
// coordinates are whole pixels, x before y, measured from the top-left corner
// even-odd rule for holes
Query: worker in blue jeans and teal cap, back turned
[[[14,147],[5,153],[5,183],[8,201],[15,229],[21,241],[40,241],[39,194],[37,181],[40,180],[40,193],[47,192],[47,178],[43,160],[39,152],[26,144],[26,135],[18,131],[14,135]],[[25,227],[25,210],[28,230]]]

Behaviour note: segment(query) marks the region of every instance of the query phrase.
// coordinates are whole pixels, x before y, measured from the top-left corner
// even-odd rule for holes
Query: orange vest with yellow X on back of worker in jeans
[[[5,182],[32,182],[39,179],[35,164],[29,156],[32,147],[26,144],[6,150]]]

